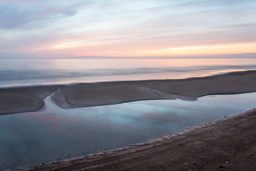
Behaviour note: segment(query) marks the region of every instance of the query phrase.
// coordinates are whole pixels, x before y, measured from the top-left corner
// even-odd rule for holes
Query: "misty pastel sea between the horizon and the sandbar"
[[[256,59],[0,59],[0,87],[182,79],[255,70]]]

